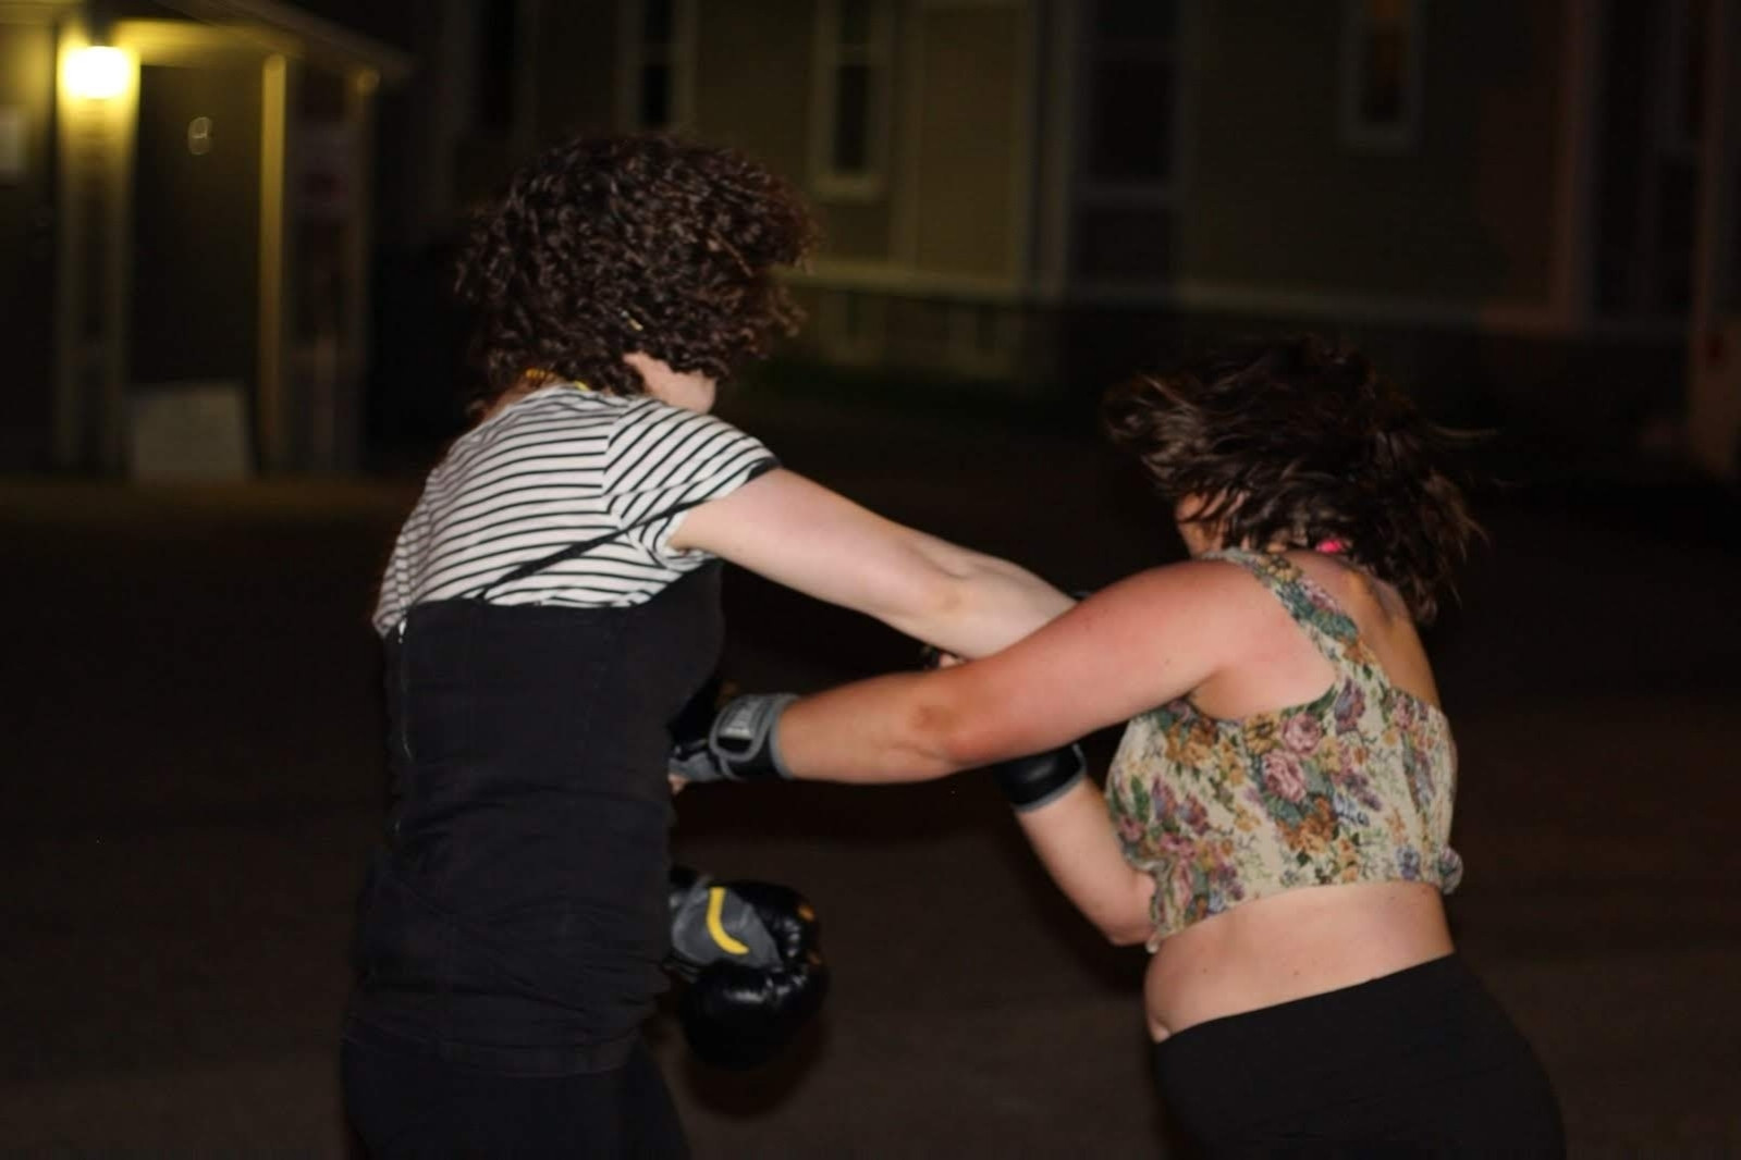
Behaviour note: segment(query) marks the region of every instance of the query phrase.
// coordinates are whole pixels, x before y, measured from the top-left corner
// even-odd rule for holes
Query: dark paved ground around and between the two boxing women
[[[745,416],[874,508],[1093,586],[1168,557],[1092,438]],[[333,1037],[381,802],[374,570],[402,478],[0,483],[0,1153],[343,1157]],[[1741,565],[1732,503],[1490,496],[1433,633],[1462,748],[1454,920],[1560,1083],[1577,1157],[1741,1157]],[[815,687],[886,630],[728,581],[729,666]],[[836,988],[750,1075],[656,1047],[703,1160],[1153,1157],[1142,953],[1097,946],[984,784],[707,786],[679,856],[803,885]],[[1309,1066],[1309,1061],[1302,1061]]]

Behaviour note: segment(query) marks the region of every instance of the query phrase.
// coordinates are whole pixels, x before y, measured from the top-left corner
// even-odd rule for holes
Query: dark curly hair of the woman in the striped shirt
[[[630,351],[728,379],[796,329],[773,268],[813,240],[790,186],[733,150],[665,136],[550,148],[475,214],[460,254],[477,403],[528,372],[639,395]]]

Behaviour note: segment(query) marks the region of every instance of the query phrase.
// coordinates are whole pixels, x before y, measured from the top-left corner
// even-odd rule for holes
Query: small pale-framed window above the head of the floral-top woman
[[[1421,0],[1344,0],[1344,144],[1408,150],[1419,120]]]

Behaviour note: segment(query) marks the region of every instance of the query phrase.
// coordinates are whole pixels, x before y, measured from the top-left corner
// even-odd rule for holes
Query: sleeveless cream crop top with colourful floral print
[[[1170,701],[1125,727],[1107,809],[1154,875],[1149,951],[1193,922],[1295,887],[1429,882],[1450,894],[1457,751],[1445,715],[1395,687],[1354,621],[1283,555],[1226,550],[1335,666],[1307,704],[1238,720]]]

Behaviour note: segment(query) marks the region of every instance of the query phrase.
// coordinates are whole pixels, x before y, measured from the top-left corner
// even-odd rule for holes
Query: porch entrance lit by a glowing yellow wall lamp
[[[273,0],[0,0],[0,470],[353,463],[373,103],[409,68]]]

